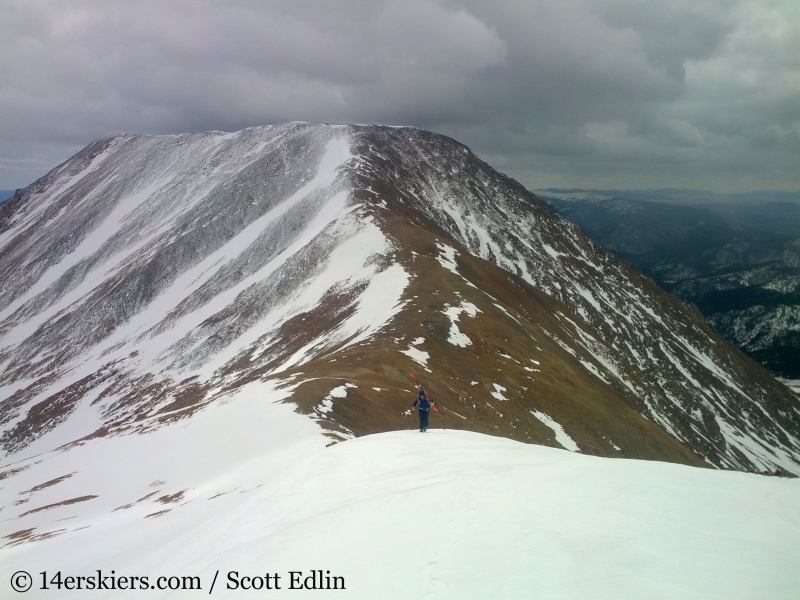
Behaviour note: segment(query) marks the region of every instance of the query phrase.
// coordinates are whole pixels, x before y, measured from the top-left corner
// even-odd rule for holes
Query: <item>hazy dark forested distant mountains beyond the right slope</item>
[[[800,379],[800,194],[536,193],[664,289],[696,304],[775,375]]]

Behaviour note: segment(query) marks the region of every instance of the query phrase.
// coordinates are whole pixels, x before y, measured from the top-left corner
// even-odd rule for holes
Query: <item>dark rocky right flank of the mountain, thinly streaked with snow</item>
[[[575,319],[562,319],[562,330],[548,335],[670,435],[702,448],[713,464],[798,472],[800,423],[784,388],[766,373],[751,376],[757,367],[744,364],[699,315],[522,186],[468,148],[427,132],[374,129],[357,152],[370,156],[357,164],[362,185],[392,182],[395,201],[562,302]],[[438,260],[454,269],[454,254]]]

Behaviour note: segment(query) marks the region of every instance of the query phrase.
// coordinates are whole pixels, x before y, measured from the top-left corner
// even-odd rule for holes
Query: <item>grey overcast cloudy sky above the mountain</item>
[[[0,188],[98,137],[416,125],[532,189],[800,189],[800,1],[0,0]]]

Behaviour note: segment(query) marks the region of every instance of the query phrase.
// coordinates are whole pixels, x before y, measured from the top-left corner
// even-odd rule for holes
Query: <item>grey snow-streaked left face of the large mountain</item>
[[[232,361],[279,373],[378,331],[408,274],[352,202],[353,159],[337,126],[126,135],[28,188],[0,232],[6,450],[79,404],[75,437],[175,404],[169,381],[221,389]],[[56,414],[32,426],[37,405]]]

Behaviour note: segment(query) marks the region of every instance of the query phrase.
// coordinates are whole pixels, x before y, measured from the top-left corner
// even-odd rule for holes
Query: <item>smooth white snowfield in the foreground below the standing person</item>
[[[67,451],[38,440],[4,465],[32,465],[3,493],[32,496],[34,511],[6,517],[4,530],[64,531],[3,548],[0,585],[26,570],[25,598],[85,597],[40,590],[38,574],[101,569],[199,576],[208,594],[219,571],[213,597],[248,597],[226,589],[235,571],[239,581],[278,574],[269,596],[296,597],[289,572],[322,570],[344,578],[345,591],[315,592],[331,598],[797,597],[800,480],[439,429],[326,447],[280,402],[289,388],[253,383],[193,419]],[[35,511],[85,496],[96,497]]]

